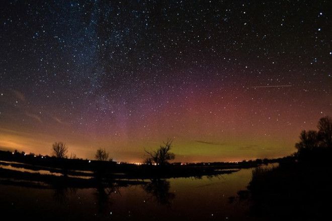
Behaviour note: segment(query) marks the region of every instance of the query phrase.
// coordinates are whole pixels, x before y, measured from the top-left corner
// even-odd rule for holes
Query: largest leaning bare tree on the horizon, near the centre
[[[160,145],[160,147],[156,151],[147,151],[145,150],[145,153],[147,155],[147,158],[145,159],[145,163],[151,163],[154,162],[159,165],[167,164],[169,160],[175,159],[174,153],[169,153],[169,151],[172,148],[172,139],[167,139],[166,142],[163,142],[163,145]]]

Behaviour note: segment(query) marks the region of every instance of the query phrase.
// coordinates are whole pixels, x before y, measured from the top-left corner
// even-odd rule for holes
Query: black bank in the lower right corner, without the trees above
[[[320,159],[294,159],[274,168],[255,168],[240,201],[250,204],[250,216],[260,220],[326,220],[332,207],[331,151]],[[316,155],[317,156],[317,155]],[[324,156],[324,157],[323,157]]]

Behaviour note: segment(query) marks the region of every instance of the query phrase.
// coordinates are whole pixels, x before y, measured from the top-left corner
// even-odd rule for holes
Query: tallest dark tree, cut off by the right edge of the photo
[[[322,147],[332,148],[332,118],[323,117],[319,119],[318,125],[318,136],[321,141]]]

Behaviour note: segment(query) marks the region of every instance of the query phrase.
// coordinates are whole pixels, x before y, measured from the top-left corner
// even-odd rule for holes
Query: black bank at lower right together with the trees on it
[[[263,220],[329,220],[332,207],[332,118],[319,119],[318,131],[303,130],[297,152],[272,169],[256,168],[247,190],[250,212]],[[231,201],[234,198],[230,198]]]

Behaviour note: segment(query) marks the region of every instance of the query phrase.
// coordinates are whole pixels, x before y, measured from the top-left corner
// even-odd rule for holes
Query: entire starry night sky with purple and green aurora
[[[331,1],[0,4],[0,149],[273,158],[332,116]]]

